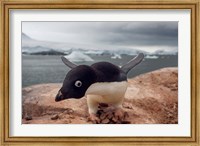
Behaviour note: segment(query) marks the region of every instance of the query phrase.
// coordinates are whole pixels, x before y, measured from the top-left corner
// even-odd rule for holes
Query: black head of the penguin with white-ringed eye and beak
[[[96,73],[90,66],[79,65],[68,72],[55,101],[82,98],[88,87],[95,83]]]

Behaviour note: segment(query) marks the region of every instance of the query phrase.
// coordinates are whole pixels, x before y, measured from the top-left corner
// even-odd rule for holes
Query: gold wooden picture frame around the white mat
[[[200,0],[2,0],[0,119],[2,145],[199,145]],[[191,137],[11,137],[9,136],[9,11],[11,9],[190,9]]]

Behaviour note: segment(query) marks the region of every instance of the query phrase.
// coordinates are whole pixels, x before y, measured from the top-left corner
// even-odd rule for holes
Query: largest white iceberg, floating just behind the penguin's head
[[[80,51],[73,51],[71,54],[66,55],[65,58],[71,62],[94,61],[90,56],[83,54]]]

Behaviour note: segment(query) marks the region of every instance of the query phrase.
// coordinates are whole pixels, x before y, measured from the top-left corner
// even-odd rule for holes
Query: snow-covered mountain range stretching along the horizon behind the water
[[[176,55],[177,51],[164,51],[158,50],[153,53],[130,48],[94,48],[86,44],[73,44],[73,43],[58,43],[39,41],[29,37],[27,34],[22,33],[22,53],[23,54],[56,54],[56,55],[67,55],[72,52],[79,52],[82,55],[111,55],[119,56],[126,55],[137,55],[144,53],[146,55]],[[50,53],[49,53],[50,52]],[[80,55],[80,54],[79,54]],[[115,58],[114,57],[114,58]]]

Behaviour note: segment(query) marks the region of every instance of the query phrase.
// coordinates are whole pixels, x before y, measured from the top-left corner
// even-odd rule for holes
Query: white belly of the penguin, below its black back
[[[127,86],[126,81],[92,84],[86,91],[87,100],[98,103],[121,103]]]

